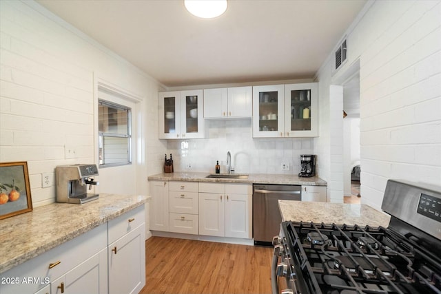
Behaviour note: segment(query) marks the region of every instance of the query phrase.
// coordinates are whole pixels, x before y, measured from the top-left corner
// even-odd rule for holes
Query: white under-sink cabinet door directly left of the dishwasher
[[[225,237],[252,238],[252,195],[226,193]]]

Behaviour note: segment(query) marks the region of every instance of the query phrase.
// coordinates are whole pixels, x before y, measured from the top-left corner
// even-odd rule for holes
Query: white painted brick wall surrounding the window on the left
[[[57,165],[95,162],[96,72],[145,98],[141,131],[150,144],[143,146],[147,156],[139,156],[145,168],[134,174],[134,166],[121,182],[124,176],[139,177],[132,193],[147,194],[145,178],[158,166],[150,154],[161,146],[157,134],[147,132],[158,129],[156,112],[147,113],[157,109],[158,83],[37,3],[0,6],[0,162],[28,161],[34,207],[55,200],[55,187],[43,189],[41,174],[54,173]],[[75,149],[75,158],[65,156],[66,147]]]

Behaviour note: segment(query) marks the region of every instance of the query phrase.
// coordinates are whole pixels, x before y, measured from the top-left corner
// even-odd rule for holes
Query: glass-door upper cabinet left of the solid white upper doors
[[[203,90],[159,93],[159,138],[204,137]]]

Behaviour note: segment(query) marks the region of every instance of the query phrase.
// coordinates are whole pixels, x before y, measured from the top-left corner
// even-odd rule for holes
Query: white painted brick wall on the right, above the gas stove
[[[440,1],[375,1],[347,32],[336,77],[360,58],[361,194],[378,209],[389,178],[441,185],[440,15]]]

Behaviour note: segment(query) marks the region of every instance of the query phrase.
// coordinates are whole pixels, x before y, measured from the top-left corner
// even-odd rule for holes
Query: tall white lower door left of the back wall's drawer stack
[[[169,191],[168,182],[150,181],[150,230],[169,231]]]

